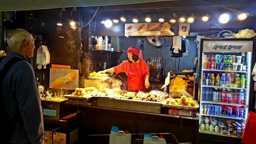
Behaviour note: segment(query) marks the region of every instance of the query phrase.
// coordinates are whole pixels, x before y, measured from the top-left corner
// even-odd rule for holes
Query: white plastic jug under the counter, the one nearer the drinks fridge
[[[145,133],[143,144],[166,144],[166,141],[164,139],[164,135],[162,134],[159,138],[158,136],[152,136],[150,133]]]

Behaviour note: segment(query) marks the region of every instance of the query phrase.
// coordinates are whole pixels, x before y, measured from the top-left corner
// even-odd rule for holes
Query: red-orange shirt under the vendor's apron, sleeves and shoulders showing
[[[142,68],[142,72],[144,74],[144,77],[146,77],[147,75],[149,76],[148,65],[147,65],[146,61],[145,60],[140,60],[140,63],[141,63],[141,68]],[[133,68],[140,68],[140,63],[135,64],[135,63],[131,62],[131,66],[133,67],[134,64],[135,64],[135,67],[133,67]],[[115,69],[116,74],[125,71],[125,74],[128,76],[128,72],[129,72],[129,69],[130,69],[129,60],[125,60],[120,65],[114,67],[114,69]]]

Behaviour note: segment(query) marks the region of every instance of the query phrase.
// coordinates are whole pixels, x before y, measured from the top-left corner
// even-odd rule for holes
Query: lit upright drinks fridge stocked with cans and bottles
[[[242,138],[250,97],[253,43],[201,39],[199,133]]]

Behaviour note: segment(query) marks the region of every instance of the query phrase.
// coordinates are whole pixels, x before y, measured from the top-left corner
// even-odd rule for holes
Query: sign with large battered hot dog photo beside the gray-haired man
[[[50,88],[74,90],[78,87],[77,69],[50,68]]]

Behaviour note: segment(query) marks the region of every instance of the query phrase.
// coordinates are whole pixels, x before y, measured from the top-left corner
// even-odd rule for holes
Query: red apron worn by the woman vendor
[[[126,84],[126,90],[128,92],[130,92],[130,91],[146,92],[144,74],[143,74],[143,71],[141,68],[141,62],[139,62],[139,63],[140,63],[140,68],[132,68],[131,63],[130,63],[130,69],[128,72],[128,78],[127,78],[127,84]]]

